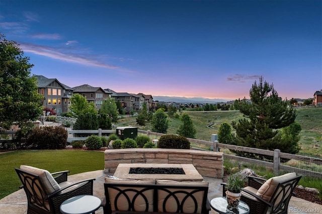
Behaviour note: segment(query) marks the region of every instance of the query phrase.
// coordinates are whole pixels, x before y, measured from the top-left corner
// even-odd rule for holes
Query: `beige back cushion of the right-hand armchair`
[[[262,197],[264,200],[270,201],[274,191],[276,190],[279,183],[295,178],[296,173],[291,172],[281,176],[276,176],[268,179],[257,191],[257,195]]]

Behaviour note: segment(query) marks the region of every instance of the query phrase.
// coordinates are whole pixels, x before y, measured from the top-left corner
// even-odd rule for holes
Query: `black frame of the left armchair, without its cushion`
[[[27,213],[61,213],[60,205],[66,199],[76,195],[93,195],[93,181],[95,179],[72,183],[50,194],[47,194],[44,185],[38,175],[26,172],[18,168],[15,168],[15,170],[21,182],[23,183],[23,185],[21,185],[19,188],[24,188],[27,195]],[[67,173],[69,173],[69,171],[55,172],[51,173],[51,175],[53,175],[54,179],[59,184],[61,182],[67,181]],[[71,188],[71,190],[66,190],[74,185],[78,186]]]

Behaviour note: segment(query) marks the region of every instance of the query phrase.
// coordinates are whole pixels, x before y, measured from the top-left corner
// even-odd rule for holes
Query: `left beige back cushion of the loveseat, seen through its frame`
[[[133,180],[133,179],[112,179],[112,178],[105,178],[106,183],[126,183],[126,184],[155,184],[154,179],[148,179],[148,180]],[[128,189],[128,187],[119,187],[121,190]],[[135,187],[132,188],[134,190],[140,191],[143,188]],[[119,193],[118,190],[109,188],[109,200],[111,202],[111,209],[112,211],[116,210],[115,207],[115,197]],[[133,197],[136,195],[135,191],[127,191],[126,194],[128,195],[130,201],[133,200]],[[153,211],[153,189],[147,190],[142,192],[142,194],[147,198],[148,201],[148,211]],[[117,210],[119,211],[127,211],[129,209],[129,204],[127,202],[127,199],[124,195],[120,195],[117,199]],[[135,199],[134,202],[134,209],[135,211],[145,211],[146,203],[142,196],[138,196]]]

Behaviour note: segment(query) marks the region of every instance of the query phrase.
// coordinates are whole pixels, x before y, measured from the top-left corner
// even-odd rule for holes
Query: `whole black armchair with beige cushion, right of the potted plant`
[[[241,200],[250,206],[251,214],[287,213],[288,204],[301,175],[295,172],[268,180],[248,176],[248,186],[241,189]],[[223,188],[223,196],[225,196]]]

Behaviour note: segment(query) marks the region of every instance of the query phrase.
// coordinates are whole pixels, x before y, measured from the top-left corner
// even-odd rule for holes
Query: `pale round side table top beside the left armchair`
[[[68,198],[60,205],[60,211],[65,214],[95,213],[101,206],[101,199],[93,195],[77,195]]]

